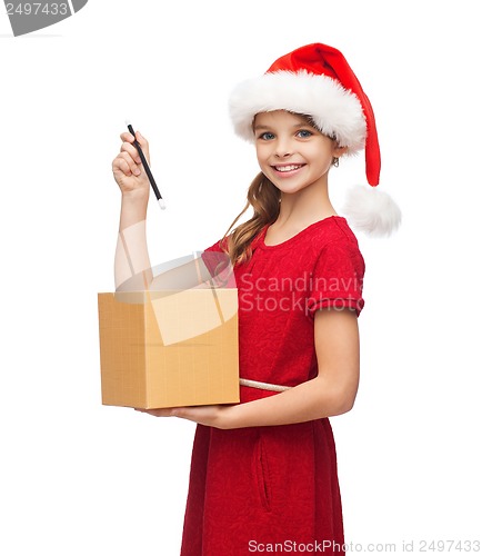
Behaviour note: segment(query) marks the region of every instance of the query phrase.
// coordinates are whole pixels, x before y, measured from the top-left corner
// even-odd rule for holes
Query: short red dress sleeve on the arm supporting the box
[[[363,276],[364,260],[355,242],[343,240],[324,246],[310,277],[310,314],[349,308],[359,316],[364,305]]]

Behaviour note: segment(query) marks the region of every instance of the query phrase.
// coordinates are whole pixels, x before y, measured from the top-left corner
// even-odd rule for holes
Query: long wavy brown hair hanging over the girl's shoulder
[[[280,198],[281,191],[277,186],[264,173],[258,173],[248,189],[248,201],[243,210],[234,218],[222,239],[221,245],[224,246],[233,266],[250,259],[252,240],[264,226],[273,224],[280,214]],[[253,216],[234,228],[250,207],[253,208]]]

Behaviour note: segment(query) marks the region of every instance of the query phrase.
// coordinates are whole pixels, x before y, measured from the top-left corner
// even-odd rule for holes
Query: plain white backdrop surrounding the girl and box
[[[404,215],[393,238],[360,237],[362,380],[332,419],[347,542],[403,554],[414,540],[416,554],[422,539],[481,538],[476,7],[90,0],[19,38],[0,14],[1,554],[179,554],[194,425],[100,403],[111,160],[128,117],[168,202],[150,207],[153,262],[213,244],[257,172],[230,90],[317,41],[369,95],[381,188]],[[335,203],[363,181],[363,156],[342,162]]]

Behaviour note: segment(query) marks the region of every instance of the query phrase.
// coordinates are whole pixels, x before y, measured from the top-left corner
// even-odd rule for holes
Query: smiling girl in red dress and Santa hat
[[[330,201],[328,175],[340,157],[365,148],[368,181],[378,185],[373,112],[341,52],[319,43],[238,86],[230,109],[235,131],[254,141],[261,169],[244,209],[252,207],[252,218],[238,227],[234,220],[209,248],[228,252],[234,268],[241,403],[147,411],[198,424],[181,554],[340,554],[329,417],[349,411],[357,396],[364,262]],[[148,141],[135,138],[149,156]],[[135,256],[148,268],[149,181],[134,137],[121,139],[112,165],[122,192],[120,229],[141,228]],[[352,221],[388,234],[400,212],[374,191],[365,192],[370,214],[359,196],[351,201]],[[121,257],[118,249],[117,284]]]

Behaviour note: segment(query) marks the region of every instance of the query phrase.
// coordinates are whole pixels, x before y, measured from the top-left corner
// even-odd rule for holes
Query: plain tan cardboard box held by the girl
[[[99,294],[102,404],[239,401],[238,290]]]

